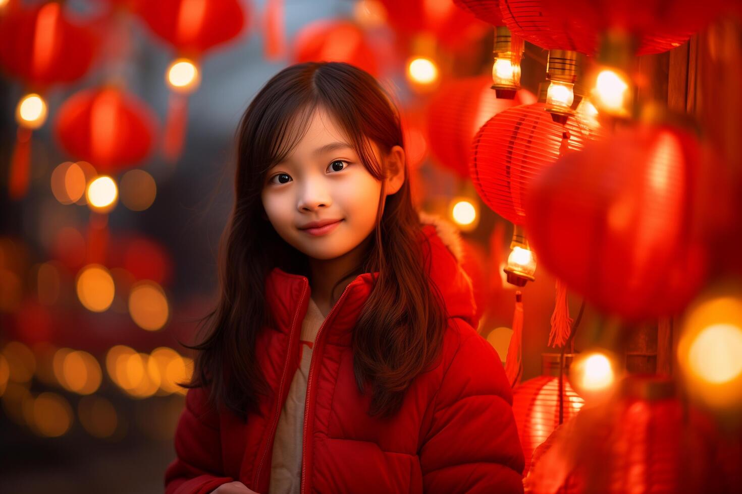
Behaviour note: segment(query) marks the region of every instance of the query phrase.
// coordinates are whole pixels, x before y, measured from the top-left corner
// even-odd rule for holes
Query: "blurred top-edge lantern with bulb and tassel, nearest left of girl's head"
[[[165,80],[171,93],[163,152],[174,160],[180,156],[185,135],[188,94],[200,81],[198,60],[206,51],[232,41],[245,24],[245,2],[237,0],[139,1],[137,13],[150,30],[170,44],[177,59],[168,67]]]

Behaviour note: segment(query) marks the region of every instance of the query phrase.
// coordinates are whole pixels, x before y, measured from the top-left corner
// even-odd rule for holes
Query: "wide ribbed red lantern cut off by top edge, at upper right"
[[[637,55],[662,53],[680,46],[715,13],[715,2],[703,9],[681,0],[500,0],[510,31],[548,50],[574,50],[592,55],[609,29],[634,35]]]

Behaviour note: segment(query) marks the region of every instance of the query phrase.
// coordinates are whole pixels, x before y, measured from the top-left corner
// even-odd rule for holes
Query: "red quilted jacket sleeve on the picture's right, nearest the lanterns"
[[[459,350],[444,369],[421,443],[426,493],[522,493],[513,395],[495,350],[454,318]]]

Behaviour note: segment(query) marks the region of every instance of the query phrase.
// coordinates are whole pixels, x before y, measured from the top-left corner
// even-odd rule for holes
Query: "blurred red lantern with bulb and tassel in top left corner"
[[[19,101],[19,128],[8,180],[11,198],[22,198],[30,178],[31,133],[46,120],[42,96],[53,84],[79,79],[88,71],[95,53],[93,32],[68,19],[63,4],[50,1],[24,8],[6,6],[0,16],[0,65],[21,79],[27,94]]]

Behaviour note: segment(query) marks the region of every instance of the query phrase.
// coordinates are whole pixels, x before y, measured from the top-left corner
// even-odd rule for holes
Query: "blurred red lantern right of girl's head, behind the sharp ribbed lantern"
[[[498,99],[490,76],[449,81],[441,86],[427,110],[430,151],[462,178],[469,177],[472,139],[485,122],[506,108],[531,104],[536,97],[519,90],[515,99]]]

